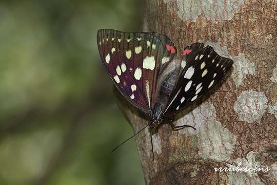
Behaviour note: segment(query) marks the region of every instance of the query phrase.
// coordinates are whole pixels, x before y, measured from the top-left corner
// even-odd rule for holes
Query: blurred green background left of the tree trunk
[[[142,1],[0,2],[0,184],[144,184],[96,32],[139,31]]]

